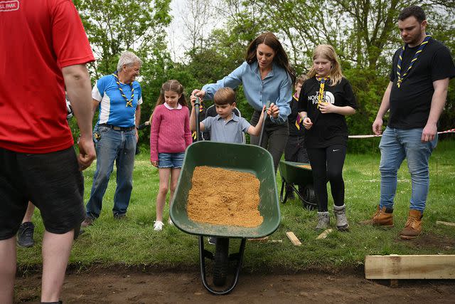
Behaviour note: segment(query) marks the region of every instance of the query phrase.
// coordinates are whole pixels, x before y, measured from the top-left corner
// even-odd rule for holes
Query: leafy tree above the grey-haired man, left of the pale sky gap
[[[164,29],[171,22],[171,0],[75,0],[97,58],[95,78],[112,73],[122,51],[153,59],[164,51]]]

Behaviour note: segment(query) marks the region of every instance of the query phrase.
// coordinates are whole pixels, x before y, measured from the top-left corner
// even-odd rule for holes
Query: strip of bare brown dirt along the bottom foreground
[[[16,301],[38,303],[41,276],[16,278]],[[64,303],[455,303],[455,281],[368,281],[361,273],[241,273],[230,295],[210,295],[196,272],[98,268],[65,279]]]

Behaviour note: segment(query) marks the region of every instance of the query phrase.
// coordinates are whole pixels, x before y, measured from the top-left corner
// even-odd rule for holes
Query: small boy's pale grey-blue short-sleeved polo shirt
[[[250,128],[250,122],[245,118],[238,117],[232,112],[230,120],[226,121],[220,115],[207,117],[202,121],[205,131],[210,132],[210,140],[213,142],[229,142],[232,144],[243,143],[243,132]]]

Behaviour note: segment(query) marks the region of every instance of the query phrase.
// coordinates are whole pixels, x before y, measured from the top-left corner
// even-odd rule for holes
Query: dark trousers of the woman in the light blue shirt
[[[253,112],[250,124],[254,126],[257,125],[260,115],[260,111]],[[277,173],[279,160],[282,158],[284,148],[286,147],[287,137],[289,137],[287,122],[278,125],[269,119],[265,121],[261,147],[272,154],[275,173]],[[259,136],[251,136],[250,143],[251,145],[259,145]]]

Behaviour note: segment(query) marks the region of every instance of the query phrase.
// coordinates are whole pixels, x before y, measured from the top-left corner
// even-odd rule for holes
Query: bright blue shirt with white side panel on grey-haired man
[[[128,99],[131,98],[129,84],[120,83]],[[127,101],[120,94],[119,87],[113,75],[100,78],[92,90],[92,98],[100,102],[100,117],[98,123],[117,127],[132,127],[136,123],[136,108],[142,103],[141,85],[137,81],[132,83],[134,99],[132,107],[127,107]]]

